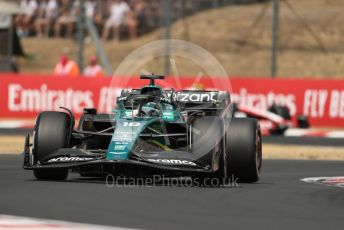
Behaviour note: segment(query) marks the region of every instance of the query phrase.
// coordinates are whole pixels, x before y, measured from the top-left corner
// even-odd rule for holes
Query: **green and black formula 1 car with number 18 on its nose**
[[[260,127],[252,118],[232,118],[224,91],[163,90],[158,75],[150,84],[124,89],[111,114],[85,109],[77,128],[66,112],[38,115],[33,143],[29,135],[24,168],[38,180],[81,176],[259,179]]]

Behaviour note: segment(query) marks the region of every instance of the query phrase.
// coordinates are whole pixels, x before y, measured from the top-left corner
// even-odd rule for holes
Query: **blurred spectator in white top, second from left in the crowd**
[[[39,37],[49,36],[50,26],[56,19],[58,5],[56,0],[41,0],[38,8],[38,17],[35,21],[36,33]]]

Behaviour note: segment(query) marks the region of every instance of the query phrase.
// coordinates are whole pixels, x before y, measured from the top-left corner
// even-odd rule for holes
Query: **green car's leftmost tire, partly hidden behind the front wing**
[[[38,115],[34,132],[34,162],[41,161],[57,149],[69,145],[71,118],[63,112],[42,112]],[[38,180],[65,180],[68,169],[34,169]]]

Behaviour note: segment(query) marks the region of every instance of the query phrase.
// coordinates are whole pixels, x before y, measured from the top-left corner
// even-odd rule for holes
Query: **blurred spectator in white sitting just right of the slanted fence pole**
[[[110,30],[114,28],[115,41],[120,39],[120,26],[125,23],[127,14],[130,12],[128,4],[123,0],[112,0],[110,6],[110,17],[105,22],[103,39],[107,40]]]

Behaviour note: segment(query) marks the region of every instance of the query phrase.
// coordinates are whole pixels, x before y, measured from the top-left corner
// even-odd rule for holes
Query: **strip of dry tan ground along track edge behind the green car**
[[[24,136],[0,136],[0,154],[20,154],[23,152]],[[305,160],[344,160],[344,148],[263,145],[264,159],[305,159]]]

